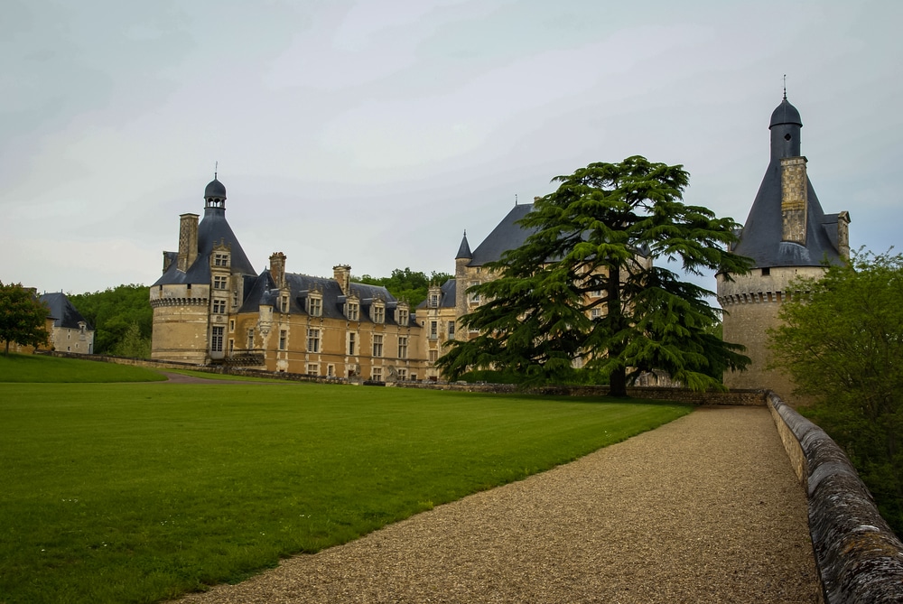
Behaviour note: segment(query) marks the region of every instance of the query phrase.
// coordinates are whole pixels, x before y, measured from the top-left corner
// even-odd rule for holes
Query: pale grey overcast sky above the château
[[[883,252],[899,23],[898,0],[6,0],[0,282],[154,283],[215,170],[259,270],[453,273],[465,229],[635,154],[743,222],[785,75],[824,211]]]

